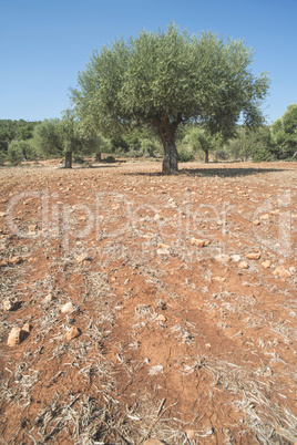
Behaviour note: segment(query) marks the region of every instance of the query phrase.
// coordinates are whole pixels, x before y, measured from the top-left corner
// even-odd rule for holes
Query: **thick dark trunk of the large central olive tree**
[[[175,145],[175,132],[177,123],[162,121],[158,125],[158,134],[164,147],[163,173],[172,174],[178,172],[178,154]]]

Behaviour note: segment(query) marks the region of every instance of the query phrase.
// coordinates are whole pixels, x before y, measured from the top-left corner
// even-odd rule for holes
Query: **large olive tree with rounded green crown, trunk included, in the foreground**
[[[262,123],[266,73],[252,73],[253,51],[211,32],[190,35],[175,24],[142,31],[91,54],[72,89],[74,111],[88,131],[107,135],[136,125],[154,127],[164,147],[163,172],[177,170],[176,130],[199,123],[229,136],[239,117]]]

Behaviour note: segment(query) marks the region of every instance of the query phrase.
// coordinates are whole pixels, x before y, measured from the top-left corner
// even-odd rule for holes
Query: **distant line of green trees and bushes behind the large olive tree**
[[[180,162],[204,161],[294,161],[297,159],[297,104],[287,107],[284,116],[270,126],[248,130],[237,125],[228,139],[219,133],[209,135],[203,125],[184,124],[177,131],[176,146]],[[65,158],[64,166],[83,163],[85,156],[96,162],[115,157],[163,156],[157,135],[148,127],[103,137],[100,133],[85,133],[70,113],[62,118],[43,122],[0,120],[0,164],[20,164],[41,158]],[[105,156],[106,158],[106,156]]]

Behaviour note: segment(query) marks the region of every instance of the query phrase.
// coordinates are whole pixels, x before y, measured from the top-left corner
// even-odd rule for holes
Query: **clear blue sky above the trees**
[[[60,117],[93,49],[171,21],[254,48],[268,123],[297,103],[297,0],[0,0],[0,118]]]

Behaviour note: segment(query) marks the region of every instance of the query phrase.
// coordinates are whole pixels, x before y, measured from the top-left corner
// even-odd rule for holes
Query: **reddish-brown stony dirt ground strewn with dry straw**
[[[180,168],[0,168],[1,444],[297,442],[297,163]]]

